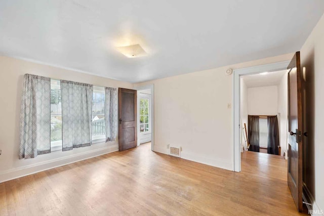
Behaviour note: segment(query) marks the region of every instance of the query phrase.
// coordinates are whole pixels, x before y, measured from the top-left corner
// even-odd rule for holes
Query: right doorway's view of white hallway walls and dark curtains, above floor
[[[240,77],[241,152],[287,155],[287,77],[287,70]]]

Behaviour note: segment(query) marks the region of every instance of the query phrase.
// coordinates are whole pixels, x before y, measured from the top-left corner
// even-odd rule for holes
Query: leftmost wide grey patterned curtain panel
[[[51,80],[25,74],[20,113],[19,159],[51,152]]]

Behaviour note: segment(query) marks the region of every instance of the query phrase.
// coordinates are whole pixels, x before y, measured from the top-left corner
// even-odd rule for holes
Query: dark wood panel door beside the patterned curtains
[[[137,92],[119,88],[119,151],[137,146]]]

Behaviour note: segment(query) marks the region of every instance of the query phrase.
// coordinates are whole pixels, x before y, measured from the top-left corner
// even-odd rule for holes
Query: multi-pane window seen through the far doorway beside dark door
[[[143,96],[144,97],[144,96]],[[150,99],[140,98],[140,133],[150,132]]]

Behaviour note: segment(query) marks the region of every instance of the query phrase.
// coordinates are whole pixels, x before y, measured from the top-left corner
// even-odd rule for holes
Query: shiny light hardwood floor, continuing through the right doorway
[[[295,215],[287,164],[242,153],[232,172],[150,143],[0,184],[0,215]]]

